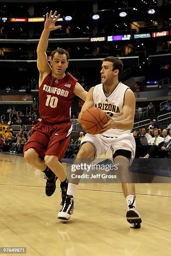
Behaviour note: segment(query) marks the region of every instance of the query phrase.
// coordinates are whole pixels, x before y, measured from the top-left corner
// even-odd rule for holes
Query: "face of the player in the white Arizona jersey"
[[[103,61],[101,66],[101,82],[102,84],[112,83],[118,74],[118,69],[113,71],[113,63],[110,61]]]

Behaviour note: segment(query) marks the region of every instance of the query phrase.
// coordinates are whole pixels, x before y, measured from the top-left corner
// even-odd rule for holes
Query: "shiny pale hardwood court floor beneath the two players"
[[[171,184],[136,184],[137,230],[121,184],[80,184],[67,223],[57,219],[59,182],[52,197],[44,186],[23,157],[0,154],[0,247],[27,247],[27,256],[171,255]]]

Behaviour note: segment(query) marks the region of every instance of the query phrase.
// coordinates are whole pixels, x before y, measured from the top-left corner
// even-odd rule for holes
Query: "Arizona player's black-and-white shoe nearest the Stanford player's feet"
[[[60,220],[69,220],[70,215],[73,214],[74,209],[74,198],[71,195],[67,195],[64,205],[60,212],[58,212],[58,219]]]

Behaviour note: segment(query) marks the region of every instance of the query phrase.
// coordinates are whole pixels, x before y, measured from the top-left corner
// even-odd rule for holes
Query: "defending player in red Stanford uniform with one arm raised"
[[[42,120],[33,128],[32,135],[25,144],[24,158],[33,167],[43,171],[46,182],[46,195],[55,192],[56,179],[60,179],[62,203],[65,201],[68,180],[62,165],[62,157],[70,141],[72,123],[70,108],[73,96],[85,101],[87,92],[71,74],[65,74],[69,54],[64,49],[56,49],[51,54],[50,65],[46,50],[50,31],[61,28],[55,26],[60,15],[55,18],[46,14],[43,33],[37,48],[39,78],[39,113]],[[45,156],[45,158],[44,158]]]

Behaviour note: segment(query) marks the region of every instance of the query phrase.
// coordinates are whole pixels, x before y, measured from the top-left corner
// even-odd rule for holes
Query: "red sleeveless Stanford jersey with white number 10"
[[[77,79],[67,73],[63,79],[48,74],[39,87],[39,113],[44,123],[70,122],[70,108]]]

